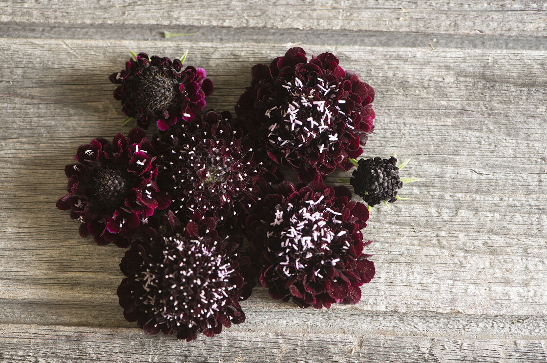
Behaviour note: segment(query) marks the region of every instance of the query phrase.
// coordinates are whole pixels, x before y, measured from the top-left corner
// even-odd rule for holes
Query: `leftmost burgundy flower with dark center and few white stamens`
[[[156,184],[154,147],[140,128],[133,128],[127,138],[118,133],[112,143],[92,140],[80,146],[74,158],[79,163],[65,167],[68,194],[57,201],[57,208],[71,209],[71,217],[82,222],[82,237],[127,247],[137,227],[146,224],[154,210],[170,204]]]

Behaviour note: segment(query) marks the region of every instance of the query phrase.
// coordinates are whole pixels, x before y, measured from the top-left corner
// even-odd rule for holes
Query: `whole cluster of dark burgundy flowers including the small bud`
[[[333,54],[291,48],[252,68],[232,117],[204,112],[213,83],[183,62],[133,54],[110,75],[123,124],[138,127],[80,146],[57,202],[82,237],[129,248],[124,317],[191,341],[243,323],[240,301],[257,282],[301,308],[357,303],[375,274],[362,232],[370,208],[415,180],[399,178],[406,162],[394,156],[356,160],[374,130],[373,88]],[[326,183],[353,167],[342,185]]]

